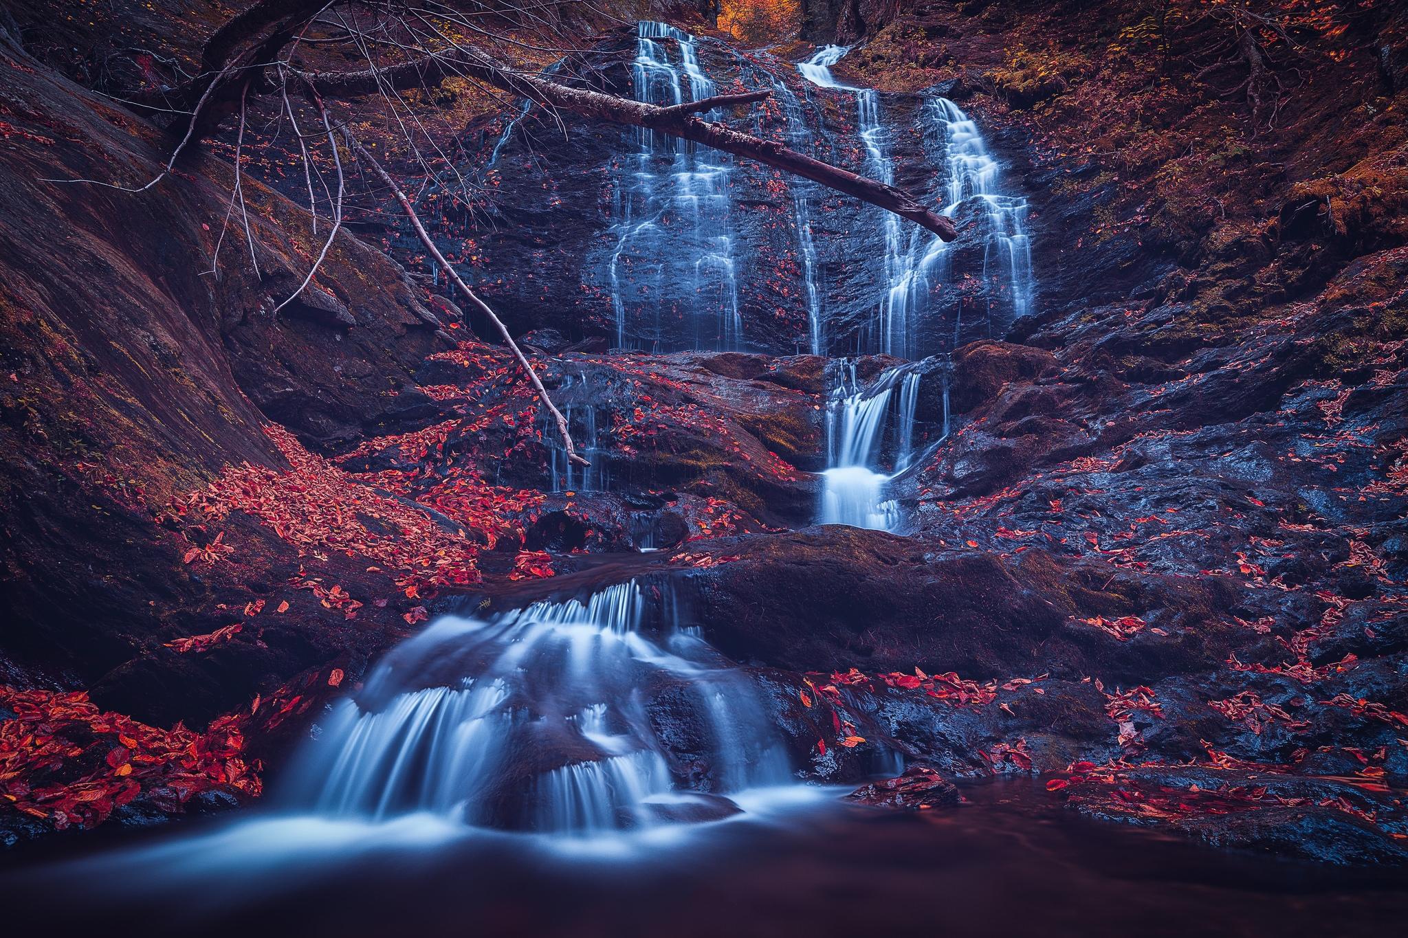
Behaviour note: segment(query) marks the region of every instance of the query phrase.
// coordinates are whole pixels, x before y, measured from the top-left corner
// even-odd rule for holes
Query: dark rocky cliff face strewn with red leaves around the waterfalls
[[[248,712],[276,755],[270,730],[429,610],[648,577],[758,669],[819,778],[860,771],[812,748],[835,712],[952,773],[1053,772],[1097,816],[1400,856],[1401,20],[1356,23],[1269,125],[1235,80],[1195,77],[1205,37],[1156,53],[1132,14],[807,7],[808,35],[865,39],[838,80],[887,89],[895,180],[942,191],[952,128],[925,108],[957,101],[1038,245],[1010,328],[955,329],[991,297],[935,280],[932,345],[905,353],[948,360],[918,371],[898,534],[808,527],[838,370],[797,353],[818,309],[815,350],[883,350],[876,212],[618,128],[472,120],[460,169],[491,195],[435,233],[538,350],[591,456],[572,475],[507,356],[435,338],[453,295],[404,232],[360,228],[410,276],[342,240],[272,314],[314,242],[300,210],[262,190],[260,273],[227,236],[208,276],[228,166],[183,166],[159,198],[41,181],[141,184],[162,142],[11,49],[6,682],[161,724]],[[679,37],[655,38],[691,80]],[[641,39],[562,73],[632,94]],[[718,87],[773,90],[735,122],[873,159],[853,94],[797,73],[812,49],[697,52]],[[983,255],[960,239],[948,270],[981,281]],[[857,381],[895,364],[865,356]]]

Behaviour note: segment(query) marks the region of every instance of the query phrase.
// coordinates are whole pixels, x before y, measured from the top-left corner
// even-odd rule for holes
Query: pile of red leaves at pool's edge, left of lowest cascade
[[[93,827],[138,796],[179,811],[207,790],[255,797],[258,762],[244,758],[237,716],[204,733],[170,730],[104,713],[87,693],[0,686],[0,799],[63,830]]]

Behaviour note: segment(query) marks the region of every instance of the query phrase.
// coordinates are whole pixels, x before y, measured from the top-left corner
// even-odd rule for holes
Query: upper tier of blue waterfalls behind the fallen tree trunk
[[[921,93],[918,108],[891,113],[880,91],[834,76],[832,66],[848,52],[843,46],[825,46],[798,63],[804,82],[793,87],[776,69],[758,68],[712,39],[663,23],[641,23],[635,42],[629,73],[638,101],[669,105],[717,94],[719,86],[705,65],[708,52],[711,62],[736,65],[745,84],[773,93],[773,117],[755,125],[755,132],[818,158],[829,156],[824,152],[829,131],[812,96],[852,98],[862,155],[856,169],[886,183],[895,181],[895,139],[914,131],[922,139],[922,159],[939,170],[928,195],[960,225],[963,245],[981,246],[966,250],[893,212],[848,207],[859,212],[860,229],[879,239],[883,264],[873,285],[865,287],[874,290],[869,322],[859,333],[834,330],[828,270],[850,259],[819,243],[815,225],[824,190],[807,180],[786,180],[787,228],[796,235],[794,263],[783,276],[796,281],[784,290],[788,301],[805,312],[805,333],[796,340],[800,350],[919,359],[952,352],[959,342],[1000,336],[1031,311],[1035,283],[1026,200],[1004,187],[1001,167],[976,122],[953,101]],[[779,114],[780,128],[772,125]],[[631,129],[622,139],[610,169],[612,224],[603,262],[615,343],[655,352],[750,347],[745,278],[760,277],[763,270],[748,267],[759,245],[749,240],[742,222],[758,207],[739,201],[746,188],[741,167],[727,153],[650,129]]]

